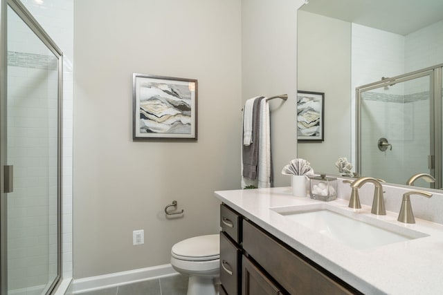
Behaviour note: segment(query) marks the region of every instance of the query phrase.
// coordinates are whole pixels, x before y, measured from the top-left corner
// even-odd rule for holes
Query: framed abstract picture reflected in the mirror
[[[297,140],[323,142],[325,138],[325,93],[297,91]]]

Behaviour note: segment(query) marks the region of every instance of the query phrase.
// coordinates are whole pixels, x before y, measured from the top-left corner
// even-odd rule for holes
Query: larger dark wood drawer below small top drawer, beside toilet
[[[240,250],[220,233],[220,282],[229,295],[239,294]]]

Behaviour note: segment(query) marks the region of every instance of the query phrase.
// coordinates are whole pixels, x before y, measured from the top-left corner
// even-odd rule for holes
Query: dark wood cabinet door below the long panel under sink
[[[246,256],[242,258],[242,295],[280,295],[285,294],[263,274]]]

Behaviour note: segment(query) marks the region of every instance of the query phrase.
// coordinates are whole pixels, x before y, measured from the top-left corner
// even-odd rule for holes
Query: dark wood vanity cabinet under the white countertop
[[[224,204],[220,218],[221,294],[361,294]]]

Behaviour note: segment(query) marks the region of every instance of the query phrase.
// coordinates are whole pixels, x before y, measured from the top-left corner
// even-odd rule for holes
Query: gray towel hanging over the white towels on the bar
[[[257,179],[258,145],[260,136],[260,102],[264,97],[257,97],[253,106],[252,117],[252,143],[248,146],[242,144],[243,177],[251,180]]]

